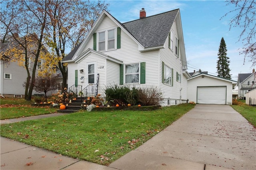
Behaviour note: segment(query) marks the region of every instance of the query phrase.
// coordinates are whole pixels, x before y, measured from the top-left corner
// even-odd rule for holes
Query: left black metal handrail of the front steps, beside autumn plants
[[[68,103],[70,99],[78,97],[82,91],[82,85],[72,85],[66,89],[64,93],[64,103]],[[82,100],[82,98],[81,98]]]

